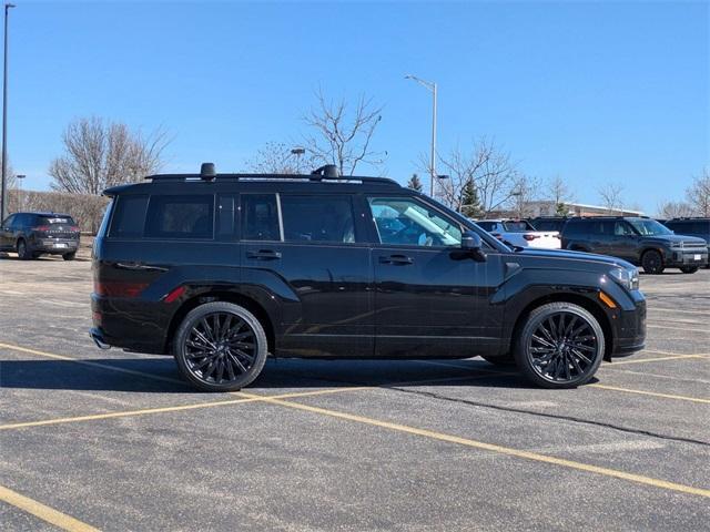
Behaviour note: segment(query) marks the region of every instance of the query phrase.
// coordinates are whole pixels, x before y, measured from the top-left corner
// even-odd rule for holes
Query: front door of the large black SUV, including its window
[[[503,284],[498,252],[476,262],[462,227],[412,196],[368,197],[376,239],[375,351],[383,358],[460,357],[499,346]]]

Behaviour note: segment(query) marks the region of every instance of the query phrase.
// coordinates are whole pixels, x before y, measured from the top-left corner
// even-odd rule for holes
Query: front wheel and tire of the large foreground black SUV
[[[514,350],[518,369],[542,388],[576,388],[599,369],[604,330],[585,308],[549,303],[527,317]]]

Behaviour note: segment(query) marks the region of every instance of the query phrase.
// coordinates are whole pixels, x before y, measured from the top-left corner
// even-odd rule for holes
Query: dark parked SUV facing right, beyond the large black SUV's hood
[[[623,258],[642,266],[647,274],[661,274],[667,267],[694,274],[708,264],[706,241],[674,235],[656,219],[645,217],[570,218],[562,229],[562,247]]]

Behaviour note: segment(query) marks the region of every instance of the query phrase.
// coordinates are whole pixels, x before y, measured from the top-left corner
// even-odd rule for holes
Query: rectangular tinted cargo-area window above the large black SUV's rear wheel
[[[149,238],[212,238],[214,195],[152,196],[148,206]]]

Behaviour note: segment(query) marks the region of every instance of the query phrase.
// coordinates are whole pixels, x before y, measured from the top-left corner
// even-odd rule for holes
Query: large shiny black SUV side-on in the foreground
[[[106,190],[97,345],[172,354],[214,391],[252,382],[267,354],[515,359],[532,382],[568,388],[643,347],[630,264],[513,250],[395,181],[316,172],[203,165]]]

